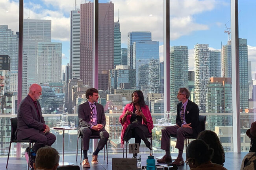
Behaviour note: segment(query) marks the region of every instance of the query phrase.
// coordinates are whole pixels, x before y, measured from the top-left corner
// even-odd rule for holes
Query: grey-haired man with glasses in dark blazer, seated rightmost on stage
[[[190,92],[187,88],[180,88],[177,94],[177,115],[175,126],[165,126],[162,128],[161,149],[165,150],[165,155],[158,159],[159,163],[172,162],[170,154],[171,135],[177,136],[177,142],[175,148],[179,150],[177,159],[172,163],[175,165],[184,165],[184,159],[182,157],[184,149],[184,141],[186,135],[192,135],[193,138],[197,138],[199,132],[201,132],[201,126],[199,123],[199,109],[197,104],[189,100]]]

